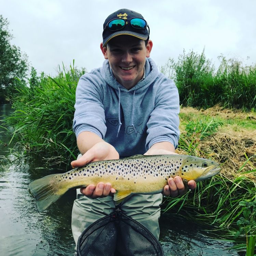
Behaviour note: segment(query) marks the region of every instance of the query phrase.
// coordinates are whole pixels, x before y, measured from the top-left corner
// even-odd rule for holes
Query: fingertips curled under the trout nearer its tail
[[[110,183],[104,184],[103,182],[98,183],[96,187],[94,185],[89,185],[86,188],[81,188],[80,191],[85,196],[91,198],[103,198],[109,195],[112,196],[116,193],[116,190],[111,187]]]

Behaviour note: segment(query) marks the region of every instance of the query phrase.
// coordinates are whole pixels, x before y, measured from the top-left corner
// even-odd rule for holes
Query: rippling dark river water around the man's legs
[[[0,105],[0,116],[11,111],[10,105]],[[43,213],[37,212],[28,191],[31,181],[65,172],[65,168],[47,166],[43,155],[24,157],[23,150],[10,151],[6,145],[10,138],[0,127],[0,255],[71,256],[75,247],[71,232],[75,190],[68,191]],[[196,224],[180,215],[163,214],[160,230],[165,256],[240,255],[229,250],[234,244],[220,240],[220,235],[211,232],[211,226]]]

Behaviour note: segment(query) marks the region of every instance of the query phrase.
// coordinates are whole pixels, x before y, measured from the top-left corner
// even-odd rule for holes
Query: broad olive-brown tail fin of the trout
[[[51,174],[34,180],[28,185],[30,193],[36,198],[38,212],[43,212],[67,191],[67,189],[61,189],[58,185],[60,175]]]

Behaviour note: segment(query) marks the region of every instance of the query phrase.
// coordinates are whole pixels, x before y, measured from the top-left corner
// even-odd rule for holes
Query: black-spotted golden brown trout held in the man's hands
[[[186,155],[137,155],[124,159],[97,161],[63,174],[52,174],[29,184],[37,200],[37,210],[43,212],[71,188],[111,183],[116,189],[114,202],[120,203],[130,194],[163,192],[167,179],[180,176],[184,182],[200,181],[220,172],[217,162]]]

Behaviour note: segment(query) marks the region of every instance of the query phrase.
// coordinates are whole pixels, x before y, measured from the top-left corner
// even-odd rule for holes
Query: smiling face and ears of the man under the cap
[[[146,57],[150,56],[152,41],[147,46],[145,41],[133,36],[121,35],[114,37],[107,48],[100,48],[113,71],[114,77],[126,89],[131,89],[142,79]]]

